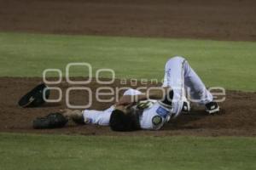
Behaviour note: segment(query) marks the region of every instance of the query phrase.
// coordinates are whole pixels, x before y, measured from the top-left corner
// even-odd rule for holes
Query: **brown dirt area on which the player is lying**
[[[0,78],[0,132],[19,133],[66,133],[84,135],[200,135],[200,136],[256,136],[256,93],[241,93],[229,91],[226,101],[221,103],[222,111],[218,115],[208,116],[203,108],[193,107],[190,115],[179,116],[176,120],[168,122],[166,126],[157,132],[139,131],[136,133],[114,133],[109,127],[98,126],[76,126],[69,123],[67,127],[51,130],[32,129],[32,120],[37,116],[44,116],[49,112],[59,111],[66,108],[65,100],[61,103],[44,104],[38,108],[20,108],[17,105],[18,99],[28,90],[33,88],[41,78]],[[150,85],[152,86],[152,85]],[[67,82],[60,86],[63,92],[70,87]],[[89,86],[87,86],[89,87]],[[95,92],[100,87],[96,82],[90,83],[90,88]],[[116,80],[111,87],[121,87],[119,80]],[[134,87],[136,88],[136,87]],[[51,99],[56,99],[56,94],[51,94]],[[73,105],[86,104],[88,98],[81,91],[74,91],[71,95]],[[84,101],[81,103],[81,101]],[[106,109],[108,104],[102,104],[93,99],[93,109]]]

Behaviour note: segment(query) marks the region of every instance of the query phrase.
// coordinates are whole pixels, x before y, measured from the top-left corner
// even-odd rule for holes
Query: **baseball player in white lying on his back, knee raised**
[[[186,59],[173,57],[166,63],[163,86],[143,94],[136,89],[125,91],[118,103],[105,111],[63,111],[62,115],[77,123],[110,126],[114,131],[138,129],[158,130],[183,111],[189,111],[185,90],[197,103],[204,105],[209,114],[219,111],[200,77]]]

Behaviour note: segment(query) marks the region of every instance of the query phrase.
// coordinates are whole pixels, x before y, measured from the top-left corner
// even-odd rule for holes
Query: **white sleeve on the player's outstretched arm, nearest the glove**
[[[96,111],[96,110],[84,110],[84,122],[86,124],[95,124],[100,126],[108,126],[109,119],[114,107],[111,106],[105,111]]]

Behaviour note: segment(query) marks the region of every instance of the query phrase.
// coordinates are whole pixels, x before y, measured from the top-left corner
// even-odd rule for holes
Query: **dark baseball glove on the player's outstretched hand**
[[[50,113],[44,117],[38,117],[33,121],[33,128],[59,128],[64,127],[68,119],[61,113]]]

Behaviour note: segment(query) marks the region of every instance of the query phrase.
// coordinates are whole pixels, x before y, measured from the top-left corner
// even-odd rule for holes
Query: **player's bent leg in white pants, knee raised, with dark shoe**
[[[206,105],[207,111],[213,113],[219,110],[218,105],[212,102],[212,94],[207,90],[200,77],[189,66],[183,57],[173,57],[166,63],[166,74],[163,86],[173,88],[174,96],[172,102],[174,111],[182,111],[185,98],[185,88],[189,87],[189,95],[197,102]]]

